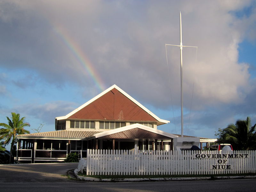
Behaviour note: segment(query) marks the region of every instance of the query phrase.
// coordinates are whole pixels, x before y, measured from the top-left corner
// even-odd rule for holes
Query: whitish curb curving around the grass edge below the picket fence
[[[74,170],[77,179],[83,181],[101,181],[101,182],[132,182],[132,181],[189,181],[189,180],[224,180],[224,179],[255,179],[256,176],[218,176],[218,177],[174,177],[174,178],[116,178],[99,179],[94,177],[79,176],[78,170]]]

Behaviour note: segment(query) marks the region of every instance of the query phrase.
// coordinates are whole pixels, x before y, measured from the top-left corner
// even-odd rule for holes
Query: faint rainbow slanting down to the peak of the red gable
[[[76,59],[79,61],[81,66],[86,70],[86,72],[92,77],[92,80],[98,87],[100,91],[104,91],[106,88],[102,79],[100,78],[97,71],[93,68],[92,62],[84,54],[81,47],[76,43],[74,39],[65,31],[63,28],[54,27],[55,32],[60,36],[61,40],[68,47],[68,49],[74,54]]]

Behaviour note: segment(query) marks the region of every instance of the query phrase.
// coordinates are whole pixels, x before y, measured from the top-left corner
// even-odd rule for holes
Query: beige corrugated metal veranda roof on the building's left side
[[[84,139],[102,131],[90,130],[60,130],[41,133],[29,133],[17,135],[19,139],[45,138],[45,139]]]

